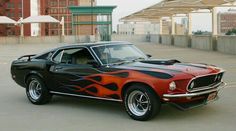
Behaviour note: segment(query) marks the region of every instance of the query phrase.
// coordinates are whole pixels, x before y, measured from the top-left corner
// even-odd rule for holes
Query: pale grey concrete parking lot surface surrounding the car
[[[227,88],[207,106],[179,111],[163,105],[151,121],[134,121],[119,103],[55,96],[47,105],[32,105],[11,79],[11,61],[63,44],[0,45],[1,131],[235,131],[236,56],[150,43],[136,44],[153,58],[208,63],[224,68]]]

